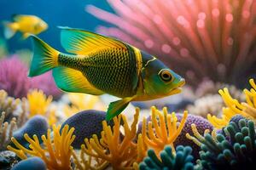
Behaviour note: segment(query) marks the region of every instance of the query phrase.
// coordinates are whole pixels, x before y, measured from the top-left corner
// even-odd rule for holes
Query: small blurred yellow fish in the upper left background
[[[13,15],[14,22],[5,21],[4,37],[7,39],[13,37],[16,31],[20,31],[22,37],[26,39],[30,34],[38,35],[48,28],[44,20],[35,15],[15,14]]]

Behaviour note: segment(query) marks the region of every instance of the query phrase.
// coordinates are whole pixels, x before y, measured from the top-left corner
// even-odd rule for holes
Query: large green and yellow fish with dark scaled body
[[[61,27],[61,45],[69,54],[32,36],[34,54],[29,77],[53,69],[58,88],[66,92],[112,94],[107,120],[131,101],[159,99],[181,92],[184,79],[153,55],[90,31]]]

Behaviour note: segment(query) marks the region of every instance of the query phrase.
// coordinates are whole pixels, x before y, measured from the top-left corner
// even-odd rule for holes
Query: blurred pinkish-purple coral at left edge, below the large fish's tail
[[[21,62],[18,56],[0,60],[0,89],[4,89],[9,96],[15,98],[26,97],[31,88],[42,89],[45,94],[58,98],[61,91],[56,88],[51,73],[29,78],[27,66]]]

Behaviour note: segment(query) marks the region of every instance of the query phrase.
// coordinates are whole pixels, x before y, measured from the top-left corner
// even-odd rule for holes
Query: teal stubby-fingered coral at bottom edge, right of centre
[[[172,169],[172,170],[189,170],[194,169],[191,156],[192,149],[189,146],[177,146],[176,154],[173,154],[172,147],[166,146],[160,152],[160,159],[156,156],[154,150],[148,150],[148,156],[139,164],[140,170],[153,169]]]

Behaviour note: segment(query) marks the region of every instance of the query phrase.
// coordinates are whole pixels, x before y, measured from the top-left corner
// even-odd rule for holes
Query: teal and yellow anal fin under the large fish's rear
[[[66,92],[101,95],[101,90],[93,87],[81,71],[59,66],[53,70],[53,77],[58,88]]]

